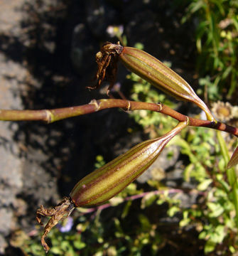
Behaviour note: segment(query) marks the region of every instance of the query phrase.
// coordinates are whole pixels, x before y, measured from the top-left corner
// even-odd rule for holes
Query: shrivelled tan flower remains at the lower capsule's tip
[[[55,206],[54,208],[46,209],[43,206],[40,206],[40,208],[37,210],[36,220],[40,225],[43,225],[43,223],[41,222],[42,216],[50,217],[50,220],[45,225],[44,233],[41,237],[41,244],[43,245],[45,252],[48,252],[48,250],[50,250],[50,247],[45,242],[45,237],[60,220],[64,220],[65,218],[67,218],[70,213],[72,213],[72,210],[74,210],[74,208],[75,206],[72,203],[71,199],[65,197],[58,204],[58,206]]]

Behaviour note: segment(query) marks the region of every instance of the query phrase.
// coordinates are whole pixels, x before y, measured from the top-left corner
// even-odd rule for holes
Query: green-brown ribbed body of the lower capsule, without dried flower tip
[[[82,178],[70,193],[75,206],[97,206],[108,201],[140,176],[157,159],[164,146],[187,125],[180,122],[171,132],[134,146],[125,154]]]

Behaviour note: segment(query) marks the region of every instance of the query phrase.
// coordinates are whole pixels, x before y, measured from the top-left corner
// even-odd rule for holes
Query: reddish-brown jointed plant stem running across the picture
[[[2,121],[43,121],[48,124],[77,117],[82,114],[90,114],[99,110],[106,110],[114,107],[129,110],[150,110],[169,115],[179,122],[186,120],[187,116],[177,112],[162,103],[134,102],[131,100],[102,99],[92,100],[89,104],[76,107],[63,107],[54,110],[0,110],[0,120]],[[189,125],[193,127],[207,127],[228,132],[238,137],[238,129],[221,122],[189,118]]]

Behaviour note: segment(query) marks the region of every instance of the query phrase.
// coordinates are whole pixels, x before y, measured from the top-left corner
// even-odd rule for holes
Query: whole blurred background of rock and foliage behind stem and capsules
[[[0,0],[0,107],[107,98],[107,83],[86,86],[95,84],[102,43],[120,41],[170,66],[217,119],[237,126],[237,9],[237,0]],[[112,95],[204,118],[122,65]],[[116,109],[53,124],[0,122],[1,255],[45,255],[38,207],[55,206],[80,178],[175,124]],[[235,145],[226,134],[186,129],[110,206],[75,210],[52,230],[48,255],[236,255],[237,196],[225,170]]]

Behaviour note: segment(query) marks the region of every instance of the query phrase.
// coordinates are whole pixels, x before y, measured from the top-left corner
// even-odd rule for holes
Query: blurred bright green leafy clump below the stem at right
[[[230,255],[237,250],[238,242],[237,177],[234,169],[226,169],[225,140],[220,133],[216,136],[212,130],[196,128],[189,129],[186,140],[178,137],[175,141],[190,160],[184,171],[185,181],[195,178],[198,191],[204,191],[202,203],[183,210],[180,226],[195,225],[200,231],[198,238],[206,241],[206,254],[215,251]]]

